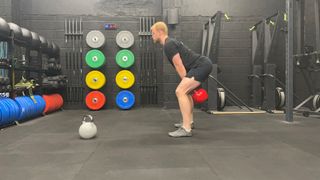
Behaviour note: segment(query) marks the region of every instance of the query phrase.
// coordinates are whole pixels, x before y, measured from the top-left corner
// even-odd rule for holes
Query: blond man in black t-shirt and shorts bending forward
[[[168,27],[164,22],[157,22],[151,27],[152,39],[163,45],[169,62],[181,78],[176,89],[176,96],[182,114],[182,122],[175,124],[178,130],[169,132],[171,137],[191,137],[193,128],[193,100],[190,93],[204,82],[212,70],[211,60],[200,56],[182,42],[168,37]]]

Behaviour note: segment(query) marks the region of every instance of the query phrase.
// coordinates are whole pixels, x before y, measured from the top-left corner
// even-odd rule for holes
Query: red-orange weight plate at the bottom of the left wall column
[[[86,96],[86,105],[91,110],[99,110],[106,103],[106,97],[100,91],[91,91]]]

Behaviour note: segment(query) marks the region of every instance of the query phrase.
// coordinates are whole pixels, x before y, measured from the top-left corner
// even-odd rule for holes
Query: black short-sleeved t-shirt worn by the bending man
[[[187,46],[185,46],[181,41],[177,41],[173,38],[167,38],[164,44],[164,52],[169,60],[169,62],[173,65],[173,56],[177,53],[180,54],[182,59],[182,63],[187,71],[189,71],[193,65],[196,64],[197,60],[200,58],[200,54],[193,52]]]

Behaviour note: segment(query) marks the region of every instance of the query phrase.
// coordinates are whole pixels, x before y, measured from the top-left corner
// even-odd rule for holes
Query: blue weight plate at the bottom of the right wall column
[[[120,109],[130,109],[134,105],[134,102],[134,94],[127,90],[120,91],[116,97],[116,104]]]

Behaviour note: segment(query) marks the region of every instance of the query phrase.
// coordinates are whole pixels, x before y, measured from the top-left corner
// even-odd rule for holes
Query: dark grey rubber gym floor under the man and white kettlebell
[[[92,114],[95,139],[82,140]],[[2,180],[317,180],[320,119],[195,111],[191,138],[167,136],[179,110],[64,110],[0,131]]]

